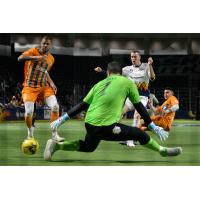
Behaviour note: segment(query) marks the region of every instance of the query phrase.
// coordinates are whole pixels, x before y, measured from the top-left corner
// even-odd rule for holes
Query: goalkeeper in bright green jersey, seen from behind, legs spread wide
[[[161,156],[179,155],[182,152],[181,147],[166,148],[160,146],[139,128],[118,123],[124,102],[126,98],[129,98],[144,119],[146,126],[161,140],[165,140],[168,137],[168,132],[151,121],[146,109],[140,102],[136,85],[133,85],[133,82],[126,77],[121,76],[119,63],[109,63],[107,73],[108,77],[97,83],[84,98],[83,102],[51,123],[51,128],[53,130],[57,129],[70,117],[75,116],[82,110],[87,110],[85,117],[85,128],[87,131],[85,140],[55,142],[49,139],[44,151],[44,159],[51,160],[54,152],[58,150],[93,152],[101,140],[136,140],[144,147],[157,151]]]

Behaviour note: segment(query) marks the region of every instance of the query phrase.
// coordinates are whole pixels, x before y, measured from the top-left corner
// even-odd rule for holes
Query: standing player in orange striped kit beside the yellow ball
[[[50,121],[54,121],[59,117],[59,105],[55,96],[56,87],[48,75],[48,71],[54,63],[54,57],[50,53],[51,46],[51,39],[45,36],[42,38],[39,48],[30,48],[18,57],[18,61],[25,61],[25,65],[27,65],[22,98],[25,105],[28,138],[34,136],[32,116],[34,103],[38,98],[42,99],[51,109]],[[58,135],[57,130],[52,132],[52,139],[56,141],[64,140]]]

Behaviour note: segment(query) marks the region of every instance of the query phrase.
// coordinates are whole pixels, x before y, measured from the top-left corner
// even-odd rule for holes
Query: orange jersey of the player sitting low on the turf
[[[165,110],[170,109],[175,104],[179,104],[178,99],[175,96],[169,97],[157,110],[157,113],[165,118],[166,122],[168,123],[169,128],[171,128],[172,122],[175,117],[175,112],[165,113]]]

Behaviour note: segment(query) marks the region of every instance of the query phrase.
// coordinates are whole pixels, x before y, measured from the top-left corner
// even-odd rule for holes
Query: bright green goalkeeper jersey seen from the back
[[[84,102],[89,104],[85,122],[94,126],[108,126],[121,119],[126,98],[140,102],[136,85],[121,75],[111,75],[89,91]]]

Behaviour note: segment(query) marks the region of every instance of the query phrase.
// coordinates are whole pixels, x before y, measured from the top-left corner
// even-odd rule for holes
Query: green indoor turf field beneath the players
[[[131,124],[130,120],[123,121]],[[163,158],[140,145],[128,148],[117,142],[102,141],[92,153],[58,151],[53,161],[43,160],[47,139],[51,137],[49,123],[36,121],[35,138],[40,144],[37,154],[24,155],[20,146],[27,135],[23,121],[0,123],[1,166],[199,166],[200,165],[200,121],[175,120],[167,141],[163,146],[181,146],[183,153],[177,157]],[[59,128],[59,133],[69,140],[84,139],[84,122],[70,120]]]

